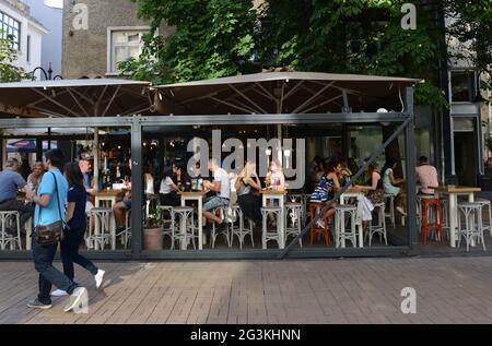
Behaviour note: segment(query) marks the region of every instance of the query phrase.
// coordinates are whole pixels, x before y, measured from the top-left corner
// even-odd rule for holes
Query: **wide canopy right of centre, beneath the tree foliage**
[[[316,72],[263,72],[155,86],[159,114],[321,114],[400,110],[418,79]],[[396,108],[398,107],[398,108]]]

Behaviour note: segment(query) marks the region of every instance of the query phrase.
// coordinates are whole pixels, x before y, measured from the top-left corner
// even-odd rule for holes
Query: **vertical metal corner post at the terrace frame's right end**
[[[410,123],[405,130],[406,145],[406,172],[407,172],[407,213],[408,213],[408,240],[412,247],[419,241],[417,229],[417,184],[415,184],[415,130],[413,115],[413,88],[408,87],[405,92],[406,111],[411,117]]]

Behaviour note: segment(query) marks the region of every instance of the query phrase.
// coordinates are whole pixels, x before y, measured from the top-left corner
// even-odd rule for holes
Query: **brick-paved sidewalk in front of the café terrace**
[[[34,265],[0,262],[0,323],[491,323],[492,258],[101,263],[89,314],[26,302]],[[417,289],[417,314],[400,310]]]

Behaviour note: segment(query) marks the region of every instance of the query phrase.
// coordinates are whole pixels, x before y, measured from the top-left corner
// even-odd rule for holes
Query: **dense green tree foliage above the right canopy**
[[[438,62],[447,52],[429,1],[417,7],[417,29],[401,28],[406,0],[131,0],[152,23],[145,49],[120,69],[155,83],[183,82],[284,67],[297,71],[420,77],[419,104],[446,107]],[[459,40],[471,38],[476,65],[491,70],[492,0],[444,0],[458,19]],[[478,19],[478,20],[476,20]],[[175,28],[154,36],[163,23]],[[468,27],[471,29],[468,29]]]

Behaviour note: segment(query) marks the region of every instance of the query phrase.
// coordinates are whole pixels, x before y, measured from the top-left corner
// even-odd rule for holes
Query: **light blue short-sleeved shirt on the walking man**
[[[56,194],[55,177],[58,184],[58,195]],[[36,204],[34,225],[35,226],[46,226],[60,220],[61,218],[65,224],[65,213],[66,213],[66,201],[68,193],[68,182],[59,169],[51,169],[43,176],[43,180],[37,190],[37,195],[42,196],[44,194],[49,194],[49,204],[47,206],[39,206]],[[58,210],[58,205],[60,208]]]

